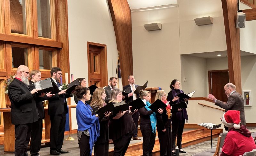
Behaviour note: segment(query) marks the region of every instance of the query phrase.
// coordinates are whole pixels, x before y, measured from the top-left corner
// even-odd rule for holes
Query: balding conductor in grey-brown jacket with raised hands
[[[244,99],[236,92],[236,86],[232,83],[227,83],[224,86],[225,94],[228,96],[227,102],[222,102],[220,100],[217,100],[215,96],[212,94],[209,94],[208,97],[213,100],[215,105],[220,106],[221,108],[225,109],[226,112],[228,110],[239,110],[240,111],[240,119],[241,119],[241,125],[246,125],[245,123],[245,115],[244,115]],[[227,127],[225,127],[226,129]],[[227,129],[226,129],[227,130]]]

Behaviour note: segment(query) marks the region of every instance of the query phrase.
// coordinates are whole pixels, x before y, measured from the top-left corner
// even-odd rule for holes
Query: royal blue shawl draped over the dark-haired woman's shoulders
[[[87,103],[83,103],[82,101],[78,101],[76,105],[76,121],[78,131],[84,131],[89,130],[90,134],[90,155],[92,155],[92,149],[94,146],[95,141],[97,141],[97,138],[100,136],[100,123],[98,117],[96,117],[92,113],[92,108]],[[81,147],[83,148],[83,147]]]

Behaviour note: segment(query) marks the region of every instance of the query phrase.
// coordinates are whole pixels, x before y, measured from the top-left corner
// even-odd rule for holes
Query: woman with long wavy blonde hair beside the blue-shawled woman
[[[96,88],[93,92],[92,101],[90,106],[92,107],[94,114],[97,114],[96,111],[101,107],[105,106],[105,89]],[[108,116],[109,112],[105,112],[105,116],[99,118],[100,122],[100,136],[97,141],[94,143],[94,156],[108,156]]]

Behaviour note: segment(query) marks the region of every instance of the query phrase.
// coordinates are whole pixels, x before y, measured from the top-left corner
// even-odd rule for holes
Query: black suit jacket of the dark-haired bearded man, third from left
[[[53,80],[51,78],[51,81],[53,82],[52,85],[56,85],[56,80]],[[59,83],[59,85],[60,85],[60,83]],[[71,96],[72,96],[72,94],[70,95],[68,93],[61,94],[61,95],[56,93],[54,96],[48,98],[48,101],[49,101],[48,115],[59,115],[59,114],[63,114],[63,113],[68,113],[66,98],[69,98]]]

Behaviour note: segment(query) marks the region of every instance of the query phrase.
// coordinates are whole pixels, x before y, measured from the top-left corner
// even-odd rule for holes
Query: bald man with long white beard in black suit
[[[29,85],[29,69],[25,65],[17,68],[16,77],[8,86],[8,96],[11,101],[11,121],[15,125],[15,156],[28,156],[27,146],[31,135],[31,124],[38,121],[36,109],[36,89]]]

